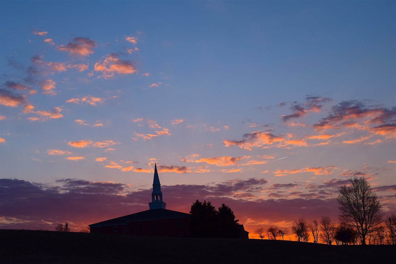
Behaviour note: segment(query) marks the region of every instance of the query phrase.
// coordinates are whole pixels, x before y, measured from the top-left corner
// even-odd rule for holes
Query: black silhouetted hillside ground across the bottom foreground
[[[396,263],[396,245],[0,230],[0,263]]]

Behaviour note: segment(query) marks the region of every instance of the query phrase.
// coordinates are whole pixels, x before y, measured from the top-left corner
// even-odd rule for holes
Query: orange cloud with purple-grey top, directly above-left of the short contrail
[[[225,140],[223,143],[228,146],[239,146],[247,150],[253,147],[262,147],[263,145],[272,145],[274,142],[281,142],[285,139],[280,136],[273,135],[265,131],[254,131],[252,133],[244,134],[242,140]]]

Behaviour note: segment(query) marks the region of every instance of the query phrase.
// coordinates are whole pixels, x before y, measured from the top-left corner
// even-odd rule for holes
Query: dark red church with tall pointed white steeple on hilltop
[[[165,209],[166,203],[162,200],[157,165],[154,168],[151,202],[148,205],[150,209],[146,211],[90,224],[91,233],[134,236],[189,236],[188,220],[190,214]]]

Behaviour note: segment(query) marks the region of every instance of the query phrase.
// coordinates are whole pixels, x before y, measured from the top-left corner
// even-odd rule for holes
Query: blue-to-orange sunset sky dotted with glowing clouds
[[[0,228],[211,201],[254,230],[396,213],[394,1],[1,1]]]

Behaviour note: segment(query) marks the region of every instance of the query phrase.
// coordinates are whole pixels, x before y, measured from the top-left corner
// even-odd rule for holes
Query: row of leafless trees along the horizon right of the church
[[[395,194],[396,197],[396,194]],[[339,188],[337,197],[339,205],[338,224],[324,216],[319,221],[314,219],[308,223],[304,218],[293,221],[291,229],[280,229],[270,226],[267,229],[257,228],[254,234],[261,239],[282,237],[292,231],[299,242],[308,242],[310,237],[314,243],[336,245],[375,245],[396,243],[396,215],[384,218],[382,204],[377,194],[364,177],[350,179],[349,185]]]

